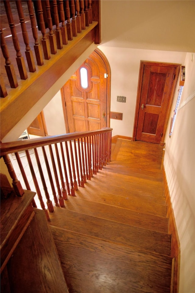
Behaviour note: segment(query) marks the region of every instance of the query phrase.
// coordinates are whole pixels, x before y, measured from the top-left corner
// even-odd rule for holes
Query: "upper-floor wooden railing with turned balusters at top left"
[[[100,43],[98,0],[1,1],[1,97],[32,78],[83,31],[96,27]],[[24,57],[25,53],[25,57]],[[2,66],[5,65],[5,66]]]

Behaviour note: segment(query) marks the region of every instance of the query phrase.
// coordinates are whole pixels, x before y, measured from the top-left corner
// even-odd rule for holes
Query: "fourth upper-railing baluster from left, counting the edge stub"
[[[28,68],[29,68],[30,72],[35,72],[36,67],[35,67],[35,63],[34,63],[33,52],[30,49],[30,45],[29,45],[29,38],[28,38],[27,28],[26,28],[26,24],[25,24],[25,18],[24,18],[21,0],[16,0],[16,7],[18,10],[19,22],[21,24],[24,44],[26,45],[25,54],[26,54],[26,58],[27,58]]]

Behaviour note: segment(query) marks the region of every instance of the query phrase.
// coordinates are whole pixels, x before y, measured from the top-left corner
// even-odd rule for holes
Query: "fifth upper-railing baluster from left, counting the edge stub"
[[[36,21],[35,21],[35,16],[34,16],[34,9],[33,9],[32,0],[28,0],[27,5],[28,5],[29,16],[30,16],[33,38],[34,38],[34,52],[35,52],[35,56],[36,56],[36,60],[37,60],[37,65],[42,66],[44,64],[44,61],[43,61],[41,46],[38,42],[38,33],[37,33],[37,27],[36,27]]]

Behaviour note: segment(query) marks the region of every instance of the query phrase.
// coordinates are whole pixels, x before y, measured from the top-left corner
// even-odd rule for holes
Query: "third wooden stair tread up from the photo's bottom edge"
[[[168,232],[168,219],[156,215],[136,212],[126,208],[115,207],[94,201],[69,196],[66,208],[73,212],[80,212],[102,219],[108,219],[131,226],[142,227],[162,233]]]

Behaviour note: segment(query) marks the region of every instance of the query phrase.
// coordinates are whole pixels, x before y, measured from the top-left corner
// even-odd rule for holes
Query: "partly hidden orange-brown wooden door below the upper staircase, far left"
[[[43,111],[34,119],[34,121],[27,128],[29,134],[37,136],[47,136],[47,128]]]

